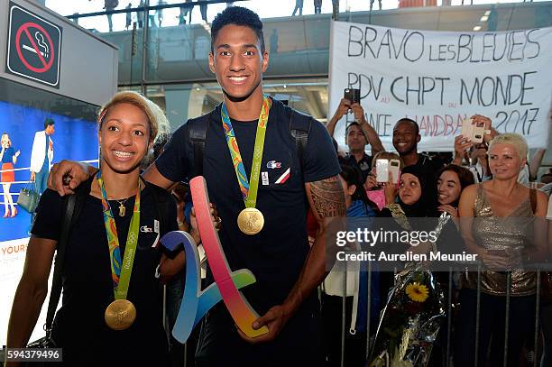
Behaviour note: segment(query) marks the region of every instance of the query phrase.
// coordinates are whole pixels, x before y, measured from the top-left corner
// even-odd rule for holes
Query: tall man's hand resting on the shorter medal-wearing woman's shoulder
[[[54,164],[48,176],[48,188],[57,191],[61,197],[74,194],[74,189],[90,177],[88,167],[87,164],[67,160]]]

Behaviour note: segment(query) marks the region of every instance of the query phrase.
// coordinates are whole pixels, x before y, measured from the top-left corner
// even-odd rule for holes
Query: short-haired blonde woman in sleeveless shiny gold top
[[[496,136],[489,144],[492,179],[465,188],[458,212],[466,247],[483,261],[479,285],[479,335],[476,330],[478,273],[465,272],[456,326],[455,365],[484,365],[489,344],[492,365],[502,365],[505,342],[506,293],[511,279],[507,365],[517,366],[526,335],[535,324],[535,272],[515,269],[528,252],[547,241],[547,229],[535,217],[546,216],[547,197],[518,182],[526,164],[527,142],[516,133]],[[536,247],[529,247],[534,234]],[[511,271],[513,269],[513,271]],[[478,355],[475,355],[475,340]],[[466,341],[470,341],[469,343]]]

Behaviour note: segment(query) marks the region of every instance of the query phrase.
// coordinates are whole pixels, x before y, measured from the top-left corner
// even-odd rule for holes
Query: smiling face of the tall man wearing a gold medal
[[[225,25],[216,35],[213,52],[209,53],[209,69],[231,100],[247,99],[259,87],[262,73],[268,67],[268,52],[261,52],[261,44],[253,29]]]

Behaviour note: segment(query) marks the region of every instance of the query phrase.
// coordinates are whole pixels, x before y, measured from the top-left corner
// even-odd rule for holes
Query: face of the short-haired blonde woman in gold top
[[[509,143],[493,144],[489,151],[489,169],[493,179],[517,178],[526,160],[520,159],[520,153]]]

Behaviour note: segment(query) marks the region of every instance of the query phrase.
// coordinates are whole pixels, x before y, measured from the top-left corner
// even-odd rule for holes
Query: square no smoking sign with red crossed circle
[[[60,88],[61,28],[10,3],[6,72]]]

